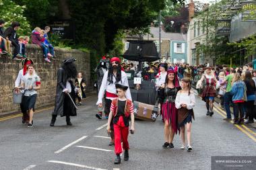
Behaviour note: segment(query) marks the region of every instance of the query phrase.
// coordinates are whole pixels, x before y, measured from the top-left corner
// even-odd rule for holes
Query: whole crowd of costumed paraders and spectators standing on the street
[[[40,77],[35,71],[31,58],[24,58],[22,66],[15,81],[15,90],[24,91],[20,103],[23,113],[22,123],[27,123],[31,128],[34,124],[34,106],[37,91],[40,89]],[[123,151],[124,161],[129,160],[128,134],[135,132],[133,99],[125,71],[134,71],[135,77],[141,77],[145,81],[155,80],[155,89],[158,92],[156,99],[158,115],[164,124],[163,148],[173,148],[172,140],[179,132],[181,149],[187,148],[187,151],[192,151],[191,125],[192,120],[195,120],[193,112],[195,91],[205,101],[206,116],[214,115],[214,100],[218,97],[220,105],[226,111],[227,117],[224,120],[232,120],[230,108],[233,108],[234,124],[251,124],[256,118],[256,113],[253,111],[256,105],[256,71],[253,70],[251,63],[236,69],[226,65],[210,67],[207,63],[189,66],[165,62],[148,62],[140,67],[135,66],[135,63],[122,63],[119,57],[104,56],[95,69],[97,75],[95,87],[98,93],[96,118],[102,119],[104,114],[108,120],[106,130],[111,137],[109,145],[115,146],[115,164],[121,163]],[[82,73],[77,73],[75,58],[63,60],[56,79],[55,108],[50,126],[55,126],[57,116],[65,116],[67,125],[72,126],[70,117],[77,116],[77,105],[81,105],[82,98],[86,97],[86,81]],[[75,104],[76,97],[77,104]]]

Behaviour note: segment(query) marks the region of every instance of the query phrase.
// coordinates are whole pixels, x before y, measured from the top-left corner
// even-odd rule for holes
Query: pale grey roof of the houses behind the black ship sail
[[[150,33],[154,36],[154,38],[159,38],[159,27],[150,27]],[[148,34],[143,36],[143,39],[147,38]],[[166,38],[171,41],[187,41],[187,34],[164,32],[164,30],[161,29],[161,38]]]

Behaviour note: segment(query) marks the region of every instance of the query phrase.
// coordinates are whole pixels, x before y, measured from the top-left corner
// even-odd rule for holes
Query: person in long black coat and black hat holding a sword
[[[50,126],[54,126],[57,116],[66,116],[67,125],[72,126],[70,122],[70,116],[76,116],[75,103],[75,86],[71,79],[75,79],[77,75],[77,69],[73,63],[75,58],[67,58],[63,60],[63,65],[57,72],[57,89],[55,98],[55,109],[52,114],[52,120]],[[69,95],[73,99],[71,101]]]

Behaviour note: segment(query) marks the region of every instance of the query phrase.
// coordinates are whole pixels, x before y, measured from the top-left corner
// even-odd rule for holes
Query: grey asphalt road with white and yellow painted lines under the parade
[[[160,119],[137,120],[135,134],[129,135],[129,161],[114,165],[106,120],[96,120],[95,103],[96,96],[88,97],[78,116],[71,118],[71,127],[59,117],[55,127],[49,126],[53,108],[36,113],[33,128],[22,124],[20,117],[0,119],[0,169],[210,169],[211,156],[256,156],[255,129],[224,122],[219,108],[212,118],[206,117],[197,97],[191,153],[179,149],[179,136],[174,137],[174,148],[162,148]]]

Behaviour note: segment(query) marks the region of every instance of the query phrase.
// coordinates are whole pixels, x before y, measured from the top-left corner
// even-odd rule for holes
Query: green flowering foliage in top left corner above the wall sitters
[[[28,35],[31,32],[30,23],[24,17],[26,6],[20,6],[10,0],[0,0],[0,16],[5,21],[5,28],[11,25],[11,22],[20,22],[19,35]]]

